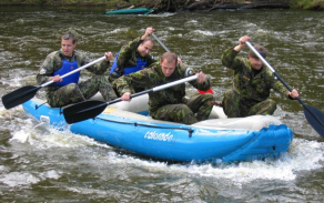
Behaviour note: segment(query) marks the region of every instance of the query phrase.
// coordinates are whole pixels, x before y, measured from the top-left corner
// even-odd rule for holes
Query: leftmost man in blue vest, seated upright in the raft
[[[52,108],[60,108],[69,103],[75,103],[93,97],[98,91],[105,101],[117,99],[117,95],[104,77],[109,68],[110,60],[113,59],[111,52],[104,53],[107,57],[101,63],[87,68],[95,75],[87,81],[79,82],[80,72],[75,72],[64,79],[63,75],[78,67],[89,63],[85,53],[75,51],[77,39],[71,33],[61,37],[61,49],[50,53],[41,65],[37,75],[39,84],[52,80],[54,83],[45,88],[48,103]]]

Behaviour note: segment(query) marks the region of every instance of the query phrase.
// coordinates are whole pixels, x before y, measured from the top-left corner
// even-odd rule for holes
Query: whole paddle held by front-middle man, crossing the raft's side
[[[195,80],[198,77],[196,75],[192,75],[192,77],[188,77],[174,82],[170,82],[160,87],[155,87],[149,90],[144,90],[142,92],[138,92],[134,94],[131,94],[131,98],[135,98],[139,95],[143,95],[145,93],[150,93],[150,92],[158,92],[160,90],[164,90],[184,82],[189,82],[192,80]],[[122,101],[121,99],[115,99],[109,102],[104,102],[104,101],[83,101],[80,103],[77,103],[74,105],[70,105],[65,109],[63,109],[63,115],[65,118],[67,123],[71,124],[71,123],[77,123],[80,121],[84,121],[88,119],[94,119],[97,115],[99,115],[100,113],[102,113],[104,111],[104,109],[109,105],[109,104],[113,104],[117,102]]]

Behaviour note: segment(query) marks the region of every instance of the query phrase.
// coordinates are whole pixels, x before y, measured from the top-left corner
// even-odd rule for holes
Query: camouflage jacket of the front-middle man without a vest
[[[169,82],[186,78],[186,72],[192,70],[186,69],[185,65],[178,65],[174,72],[170,77],[164,77],[160,63],[154,63],[151,68],[144,69],[128,75],[123,75],[115,80],[114,88],[120,95],[125,92],[134,93],[134,87],[143,89],[152,89]],[[199,84],[196,80],[190,82],[194,88],[200,90],[207,90],[210,88],[210,81]],[[150,114],[154,113],[159,108],[166,104],[185,103],[185,84],[179,84],[165,90],[149,93],[149,111]]]

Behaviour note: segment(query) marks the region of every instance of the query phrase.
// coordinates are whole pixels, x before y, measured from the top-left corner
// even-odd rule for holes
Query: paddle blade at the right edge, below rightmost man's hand
[[[304,104],[304,114],[313,129],[324,138],[324,114],[312,105]]]

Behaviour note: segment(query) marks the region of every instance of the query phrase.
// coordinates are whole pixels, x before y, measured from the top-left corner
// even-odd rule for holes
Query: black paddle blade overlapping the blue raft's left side
[[[64,108],[63,115],[65,118],[67,123],[69,124],[77,123],[88,119],[94,119],[97,115],[104,111],[107,105],[108,104],[103,101],[95,100],[84,101]]]

